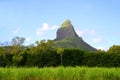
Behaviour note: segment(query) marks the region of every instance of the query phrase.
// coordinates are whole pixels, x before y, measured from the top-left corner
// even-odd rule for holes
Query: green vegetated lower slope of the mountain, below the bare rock
[[[91,48],[86,42],[84,42],[81,38],[71,37],[64,38],[62,40],[54,41],[53,46],[55,48],[77,48],[82,50],[90,50],[96,51],[96,49]]]

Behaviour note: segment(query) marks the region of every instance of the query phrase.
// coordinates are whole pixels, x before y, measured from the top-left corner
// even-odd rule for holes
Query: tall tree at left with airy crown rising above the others
[[[25,42],[25,38],[23,37],[15,37],[12,39],[12,51],[11,54],[13,54],[12,61],[13,65],[16,66],[20,63],[20,61],[23,59],[22,57],[22,51],[24,50],[23,43]]]

